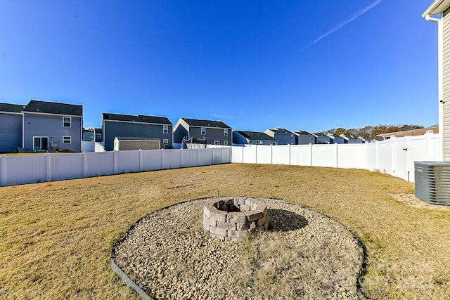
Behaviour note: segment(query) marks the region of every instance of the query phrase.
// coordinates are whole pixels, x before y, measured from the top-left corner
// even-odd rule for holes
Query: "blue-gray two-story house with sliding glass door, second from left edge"
[[[30,100],[23,109],[23,148],[79,152],[83,139],[83,107],[67,103]]]

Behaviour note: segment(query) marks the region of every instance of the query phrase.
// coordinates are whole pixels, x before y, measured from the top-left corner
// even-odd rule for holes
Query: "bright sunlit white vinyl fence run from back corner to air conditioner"
[[[392,137],[366,144],[233,147],[232,163],[290,164],[380,171],[414,182],[414,162],[442,158],[439,134]]]

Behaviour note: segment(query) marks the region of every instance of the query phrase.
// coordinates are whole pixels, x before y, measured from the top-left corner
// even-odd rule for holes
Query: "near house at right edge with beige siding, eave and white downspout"
[[[442,160],[450,162],[450,1],[435,0],[423,12],[422,17],[436,22],[437,30],[437,62],[438,62],[438,95],[439,95],[439,134],[441,136]],[[431,16],[434,16],[432,18]],[[435,18],[438,17],[438,18]]]

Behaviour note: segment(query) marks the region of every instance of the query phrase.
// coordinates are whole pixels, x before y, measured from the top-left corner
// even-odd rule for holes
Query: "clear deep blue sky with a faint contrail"
[[[432,0],[0,0],[0,102],[236,130],[438,123]]]

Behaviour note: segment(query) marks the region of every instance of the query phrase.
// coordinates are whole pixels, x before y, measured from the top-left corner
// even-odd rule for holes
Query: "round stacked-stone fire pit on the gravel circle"
[[[203,228],[222,241],[242,240],[249,233],[268,230],[267,207],[249,197],[214,197],[203,207]]]

